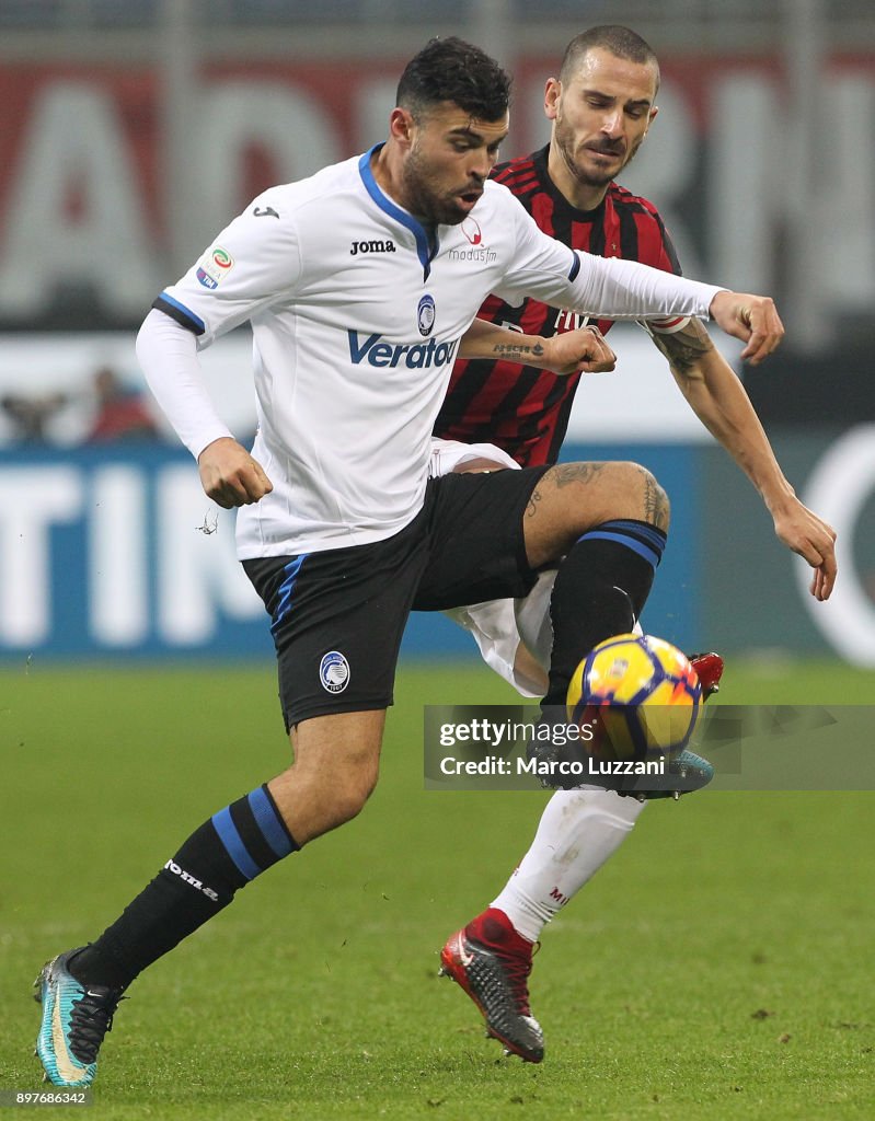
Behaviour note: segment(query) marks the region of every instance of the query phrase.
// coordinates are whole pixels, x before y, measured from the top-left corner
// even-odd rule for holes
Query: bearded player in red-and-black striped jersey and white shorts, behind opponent
[[[569,44],[559,78],[546,84],[544,110],[553,122],[550,145],[497,166],[492,175],[543,230],[574,249],[678,272],[678,258],[656,209],[614,182],[656,117],[658,84],[657,59],[634,31],[597,27],[583,33]],[[472,231],[471,238],[476,237]],[[532,299],[512,307],[491,297],[479,314],[546,337],[581,325],[573,315]],[[611,324],[598,321],[593,326],[606,333]],[[692,409],[759,491],[779,538],[813,568],[812,594],[826,599],[836,574],[835,534],[796,499],[747,393],[703,325],[698,319],[663,321],[650,322],[647,330]],[[512,355],[501,344],[492,353],[494,361],[457,363],[434,430],[435,473],[529,466],[558,458],[580,374],[562,377],[532,367],[521,372],[518,355],[506,361],[503,355]],[[472,444],[476,450],[462,447]],[[457,613],[487,663],[529,696],[546,688],[550,593],[550,576],[543,574],[516,605],[496,601]],[[720,669],[721,663],[716,670],[701,664],[704,689],[716,684]],[[544,925],[617,850],[643,805],[595,787],[558,790],[528,852],[491,906],[444,945],[442,972],[471,997],[486,1018],[488,1034],[508,1053],[533,1063],[543,1058],[543,1034],[528,1001],[533,945]]]

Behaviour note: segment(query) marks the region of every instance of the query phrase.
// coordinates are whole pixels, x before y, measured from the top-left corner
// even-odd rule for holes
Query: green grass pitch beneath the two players
[[[132,986],[88,1115],[875,1117],[872,793],[650,806],[545,932],[545,1062],[483,1038],[438,951],[501,886],[546,794],[424,791],[422,705],[513,696],[473,660],[404,667],[365,813]],[[721,696],[875,704],[875,675],[730,664]],[[287,747],[271,666],[38,664],[0,671],[0,1088],[35,1090],[42,963],[94,937]]]

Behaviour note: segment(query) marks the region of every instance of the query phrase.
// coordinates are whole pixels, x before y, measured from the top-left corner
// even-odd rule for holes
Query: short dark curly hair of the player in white
[[[497,121],[510,103],[510,75],[479,47],[455,36],[430,39],[407,63],[396,104],[416,119],[442,101],[479,120]]]

